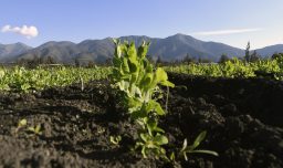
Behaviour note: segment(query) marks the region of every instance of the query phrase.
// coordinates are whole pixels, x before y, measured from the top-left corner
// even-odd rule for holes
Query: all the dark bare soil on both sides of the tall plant
[[[283,167],[283,83],[266,78],[211,78],[169,74],[168,115],[160,126],[167,150],[207,130],[199,149],[219,153],[178,159],[176,167]],[[166,91],[166,88],[165,88]],[[161,99],[165,105],[165,99]],[[17,128],[41,125],[42,134]],[[137,126],[118,104],[108,82],[49,88],[30,94],[0,93],[0,167],[172,167],[143,159],[130,148]],[[122,136],[114,145],[109,136]]]

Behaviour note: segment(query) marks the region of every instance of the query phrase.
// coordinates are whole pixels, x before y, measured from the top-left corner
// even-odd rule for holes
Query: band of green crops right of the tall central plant
[[[283,56],[273,60],[245,62],[238,59],[221,64],[186,64],[164,67],[167,72],[185,73],[197,76],[212,77],[255,77],[258,73],[271,74],[276,80],[283,80]]]

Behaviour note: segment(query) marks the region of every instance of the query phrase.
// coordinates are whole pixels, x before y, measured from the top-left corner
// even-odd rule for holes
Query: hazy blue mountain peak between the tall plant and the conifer
[[[218,61],[226,53],[229,56],[241,56],[241,49],[216,42],[203,42],[189,35],[176,34],[158,41],[150,46],[150,53],[163,55],[167,60],[181,60],[187,53],[193,57]]]

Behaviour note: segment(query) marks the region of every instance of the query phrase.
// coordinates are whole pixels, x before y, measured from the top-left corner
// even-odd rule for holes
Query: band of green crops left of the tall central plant
[[[84,90],[84,83],[91,80],[106,78],[111,67],[24,67],[0,69],[0,90],[29,92],[52,86],[66,86],[80,83]]]

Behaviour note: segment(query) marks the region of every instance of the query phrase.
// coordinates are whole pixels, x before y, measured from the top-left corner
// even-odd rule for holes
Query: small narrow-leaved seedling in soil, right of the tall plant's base
[[[200,143],[206,138],[206,136],[207,136],[207,132],[201,132],[199,136],[195,139],[193,144],[190,146],[188,146],[187,139],[184,140],[180,155],[184,156],[186,161],[188,160],[187,154],[192,154],[192,153],[201,153],[201,154],[219,156],[218,153],[216,151],[196,149],[200,145]]]

